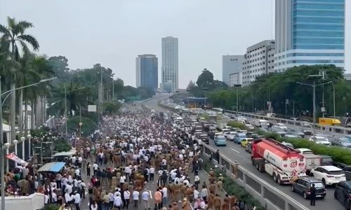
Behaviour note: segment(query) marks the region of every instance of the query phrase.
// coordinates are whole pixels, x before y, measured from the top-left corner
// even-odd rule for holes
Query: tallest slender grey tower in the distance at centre
[[[178,90],[178,38],[173,36],[162,38],[161,82],[162,87],[171,83],[169,92]]]

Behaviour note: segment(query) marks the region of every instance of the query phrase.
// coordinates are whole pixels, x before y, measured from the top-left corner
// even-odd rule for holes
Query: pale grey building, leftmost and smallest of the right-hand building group
[[[242,64],[244,55],[223,55],[222,56],[222,80],[233,87],[241,85]]]

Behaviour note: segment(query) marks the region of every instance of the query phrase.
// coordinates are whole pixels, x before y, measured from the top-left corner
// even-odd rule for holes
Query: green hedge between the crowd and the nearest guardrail
[[[212,162],[204,162],[203,169],[206,172],[209,172],[210,169],[215,169],[214,172],[216,173],[216,176],[218,177],[221,172],[219,168],[216,168],[215,165],[213,165]],[[235,195],[237,197],[237,201],[243,200],[248,207],[256,207],[256,210],[263,210],[264,208],[256,200],[255,198],[250,195],[245,188],[239,186],[237,183],[235,183],[234,179],[232,179],[230,176],[227,176],[226,174],[223,174],[224,180],[223,180],[223,189],[225,190],[226,193],[229,195]]]

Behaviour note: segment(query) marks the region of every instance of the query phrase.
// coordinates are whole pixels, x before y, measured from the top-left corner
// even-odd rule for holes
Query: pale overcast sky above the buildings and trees
[[[100,63],[135,86],[135,57],[159,58],[161,38],[175,36],[179,87],[210,70],[222,80],[222,55],[243,55],[274,39],[274,0],[0,0],[6,17],[34,24],[39,54],[67,57],[70,69]],[[346,0],[345,69],[351,72],[351,0]]]

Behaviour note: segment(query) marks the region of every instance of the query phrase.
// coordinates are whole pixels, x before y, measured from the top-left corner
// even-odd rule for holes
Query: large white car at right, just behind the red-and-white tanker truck
[[[314,178],[322,180],[324,186],[330,186],[340,181],[346,181],[345,172],[342,169],[332,166],[320,166],[311,170],[311,176]]]

